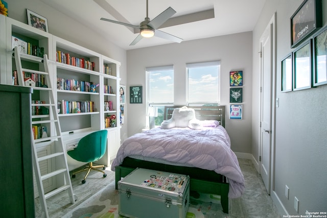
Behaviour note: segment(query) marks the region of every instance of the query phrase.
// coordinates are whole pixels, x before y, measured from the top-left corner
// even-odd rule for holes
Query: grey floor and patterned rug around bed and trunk
[[[239,217],[281,217],[267,194],[261,176],[256,172],[250,160],[239,159],[245,178],[243,196],[230,199],[229,213],[223,213],[219,196],[203,195],[190,200],[187,218],[239,218]],[[78,174],[72,179],[77,201],[69,202],[66,192],[47,200],[49,216],[53,217],[108,217],[118,216],[118,193],[114,190],[114,172],[106,171],[107,177],[91,172],[86,183],[81,184],[84,175]],[[36,217],[41,217],[38,198],[35,199]]]

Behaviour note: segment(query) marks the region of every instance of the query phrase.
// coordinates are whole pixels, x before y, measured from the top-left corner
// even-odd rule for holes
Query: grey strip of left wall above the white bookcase
[[[30,9],[48,19],[49,33],[121,62],[121,84],[126,84],[127,65],[126,51],[124,49],[121,49],[107,38],[96,34],[95,31],[90,31],[82,23],[62,14],[60,11],[49,7],[41,1],[10,0],[6,2],[8,3],[10,18],[28,23],[26,9]],[[127,125],[122,126],[121,132],[127,132]]]

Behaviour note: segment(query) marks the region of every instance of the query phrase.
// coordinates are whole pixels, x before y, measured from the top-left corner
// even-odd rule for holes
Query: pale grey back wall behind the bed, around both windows
[[[252,32],[171,43],[127,51],[127,86],[146,87],[145,68],[174,65],[175,105],[185,105],[186,63],[221,61],[221,105],[226,106],[226,130],[235,152],[251,153]],[[229,71],[243,70],[243,120],[229,120]],[[129,93],[129,88],[126,87]],[[208,93],[209,94],[209,93]],[[145,98],[145,94],[143,95]],[[127,102],[129,100],[127,99]],[[146,126],[146,104],[127,104],[128,134]]]

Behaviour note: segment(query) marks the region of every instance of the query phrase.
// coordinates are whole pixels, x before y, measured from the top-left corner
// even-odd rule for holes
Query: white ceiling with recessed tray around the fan
[[[144,21],[146,17],[146,0],[40,1],[84,23],[88,29],[109,38],[110,41],[125,50],[172,43],[166,39],[152,37],[143,38],[137,44],[130,46],[129,44],[136,38],[138,33],[133,33],[132,28],[100,20],[101,17],[104,17],[139,26],[139,23]],[[214,18],[190,22],[190,15],[189,17],[184,17],[186,19],[185,23],[159,28],[161,31],[182,38],[183,41],[252,31],[266,2],[266,0],[148,1],[149,17],[151,20],[168,7],[172,7],[177,12],[172,16],[171,22],[174,22],[176,17],[182,15],[210,9],[214,10]],[[194,17],[195,16],[192,15],[192,18]],[[175,20],[173,18],[175,18]],[[169,23],[169,21],[167,21],[167,23]]]

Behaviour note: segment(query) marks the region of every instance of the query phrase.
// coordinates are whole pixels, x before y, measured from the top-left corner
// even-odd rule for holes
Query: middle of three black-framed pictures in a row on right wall
[[[312,39],[293,52],[293,90],[312,87]]]

